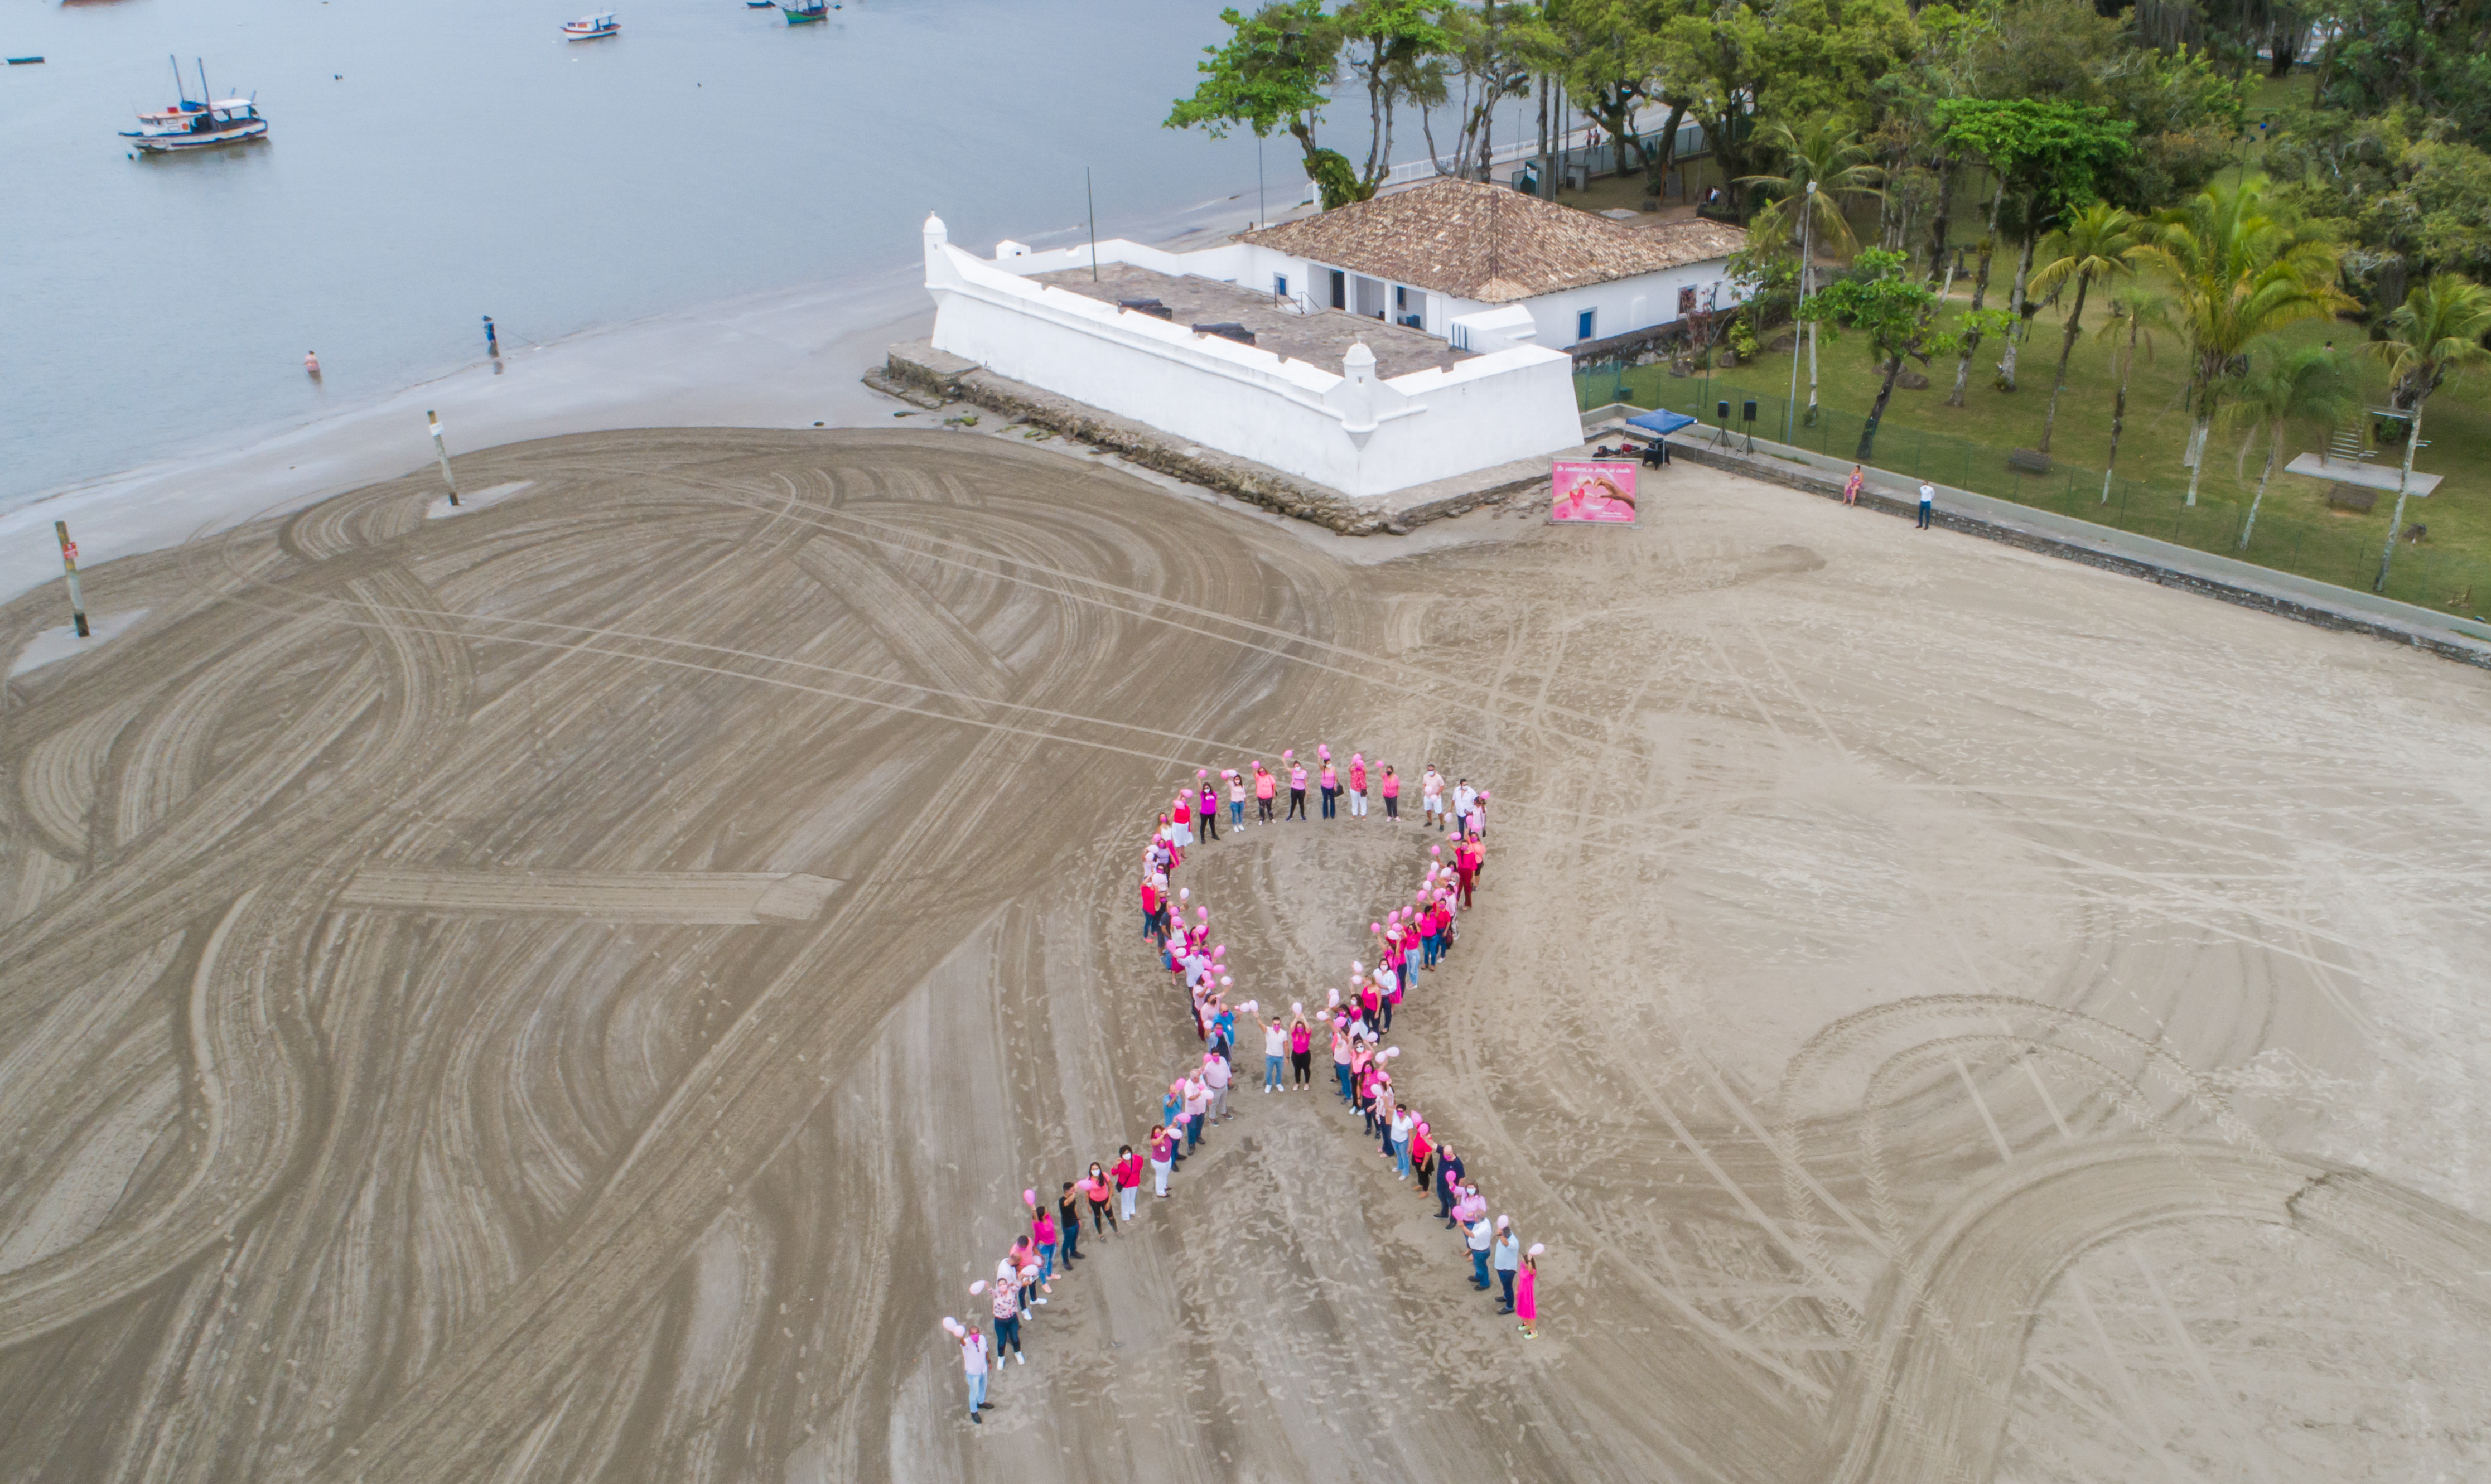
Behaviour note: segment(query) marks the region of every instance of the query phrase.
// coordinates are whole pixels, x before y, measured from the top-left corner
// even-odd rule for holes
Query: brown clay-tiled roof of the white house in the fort
[[[1512,304],[1729,256],[1746,232],[1721,222],[1622,227],[1510,187],[1440,177],[1248,232],[1243,242],[1415,289]]]

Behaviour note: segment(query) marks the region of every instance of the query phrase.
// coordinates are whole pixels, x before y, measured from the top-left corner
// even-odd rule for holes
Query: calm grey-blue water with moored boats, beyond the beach
[[[513,354],[780,289],[887,319],[927,212],[1076,242],[1084,167],[1101,237],[1246,227],[1255,142],[1158,127],[1221,2],[618,0],[565,42],[590,0],[17,0],[0,52],[47,62],[0,70],[0,510],[473,366],[483,314]],[[130,159],[167,55],[269,139]],[[1303,179],[1265,159],[1278,212]]]

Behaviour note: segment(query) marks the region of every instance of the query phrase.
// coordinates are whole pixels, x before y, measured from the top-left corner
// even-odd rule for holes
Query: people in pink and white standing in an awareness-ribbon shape
[[[1487,1200],[1477,1180],[1465,1168],[1450,1143],[1440,1140],[1415,1108],[1392,1091],[1392,1061],[1400,1046],[1383,1046],[1392,1031],[1392,1011],[1402,1006],[1420,974],[1445,964],[1457,936],[1460,914],[1470,909],[1472,891],[1487,859],[1487,789],[1472,789],[1470,779],[1445,782],[1430,762],[1420,774],[1420,822],[1445,827],[1445,844],[1430,844],[1427,869],[1407,906],[1385,911],[1368,924],[1375,939],[1375,966],[1350,964],[1350,989],[1328,991],[1328,1003],[1308,1023],[1305,1003],[1290,1003],[1290,1013],[1263,1013],[1258,1001],[1228,1003],[1236,976],[1228,974],[1228,946],[1211,941],[1211,909],[1193,901],[1193,891],[1173,886],[1186,852],[1198,842],[1221,837],[1221,804],[1228,804],[1228,827],[1248,829],[1246,802],[1253,799],[1253,824],[1285,824],[1305,819],[1305,787],[1315,782],[1323,799],[1323,819],[1338,817],[1338,804],[1348,797],[1353,819],[1368,817],[1368,787],[1378,787],[1385,819],[1400,822],[1402,779],[1390,767],[1370,772],[1365,754],[1353,752],[1348,767],[1333,762],[1328,744],[1315,747],[1315,767],[1308,769],[1295,749],[1280,752],[1283,772],[1275,774],[1255,759],[1246,769],[1196,769],[1158,814],[1158,824],[1143,847],[1141,862],[1141,934],[1158,949],[1161,966],[1183,986],[1191,1003],[1193,1031],[1203,1043],[1201,1063],[1188,1063],[1161,1098],[1158,1120],[1143,1140],[1143,1153],[1123,1145],[1113,1165],[1091,1163],[1076,1180],[1064,1180],[1061,1193],[1044,1195],[1039,1188],[1021,1190],[1029,1210],[1029,1230],[1019,1235],[994,1270],[991,1280],[969,1285],[974,1297],[989,1302],[994,1340],[976,1322],[962,1325],[944,1317],[944,1330],[959,1345],[962,1369],[969,1377],[969,1419],[984,1422],[986,1382],[1006,1357],[1026,1364],[1021,1350],[1021,1325],[1054,1292],[1059,1272],[1069,1275],[1081,1260],[1081,1220],[1091,1223],[1091,1237],[1106,1233],[1123,1235],[1133,1223],[1133,1205],[1141,1193],[1141,1175],[1148,1168],[1153,1198],[1168,1198],[1168,1178],[1196,1153],[1203,1133],[1236,1118],[1231,1111],[1233,1046],[1238,1016],[1255,1016],[1263,1028],[1263,1091],[1295,1093],[1310,1086],[1315,1046],[1330,1041],[1333,1086],[1343,1103],[1365,1123],[1368,1138],[1378,1140],[1378,1155],[1392,1160],[1402,1180],[1417,1193],[1435,1195],[1437,1215],[1450,1230],[1462,1233],[1472,1262],[1472,1285],[1482,1292],[1497,1290],[1502,1307],[1515,1315],[1524,1337],[1537,1340],[1537,1272],[1542,1245],[1522,1247],[1512,1218],[1487,1218]],[[1285,784],[1283,784],[1285,777]],[[1280,789],[1288,789],[1288,814],[1273,817]],[[1226,792],[1226,799],[1221,794]],[[1450,852],[1450,859],[1447,859]],[[1191,909],[1191,919],[1188,919]],[[1059,1267],[1061,1262],[1061,1267]],[[1495,1280],[1490,1280],[1495,1272]]]

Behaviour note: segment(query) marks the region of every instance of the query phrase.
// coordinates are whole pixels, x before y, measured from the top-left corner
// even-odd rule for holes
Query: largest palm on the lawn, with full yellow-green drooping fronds
[[[2190,505],[2197,503],[2205,436],[2232,364],[2287,324],[2352,306],[2334,286],[2337,256],[2327,239],[2272,214],[2257,179],[2207,187],[2185,207],[2155,214],[2152,242],[2137,259],[2170,279],[2190,344],[2190,396],[2197,403]]]

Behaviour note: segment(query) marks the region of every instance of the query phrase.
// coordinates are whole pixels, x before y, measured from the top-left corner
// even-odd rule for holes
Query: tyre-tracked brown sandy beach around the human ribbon
[[[989,433],[12,585],[0,1477],[2491,1472],[2491,677],[1686,463],[1350,543]],[[1241,1076],[971,1427],[939,1317],[1198,1046],[1156,802],[1315,742],[1495,789],[1397,1073],[1542,1337]],[[1425,849],[1181,881],[1320,1001]]]

